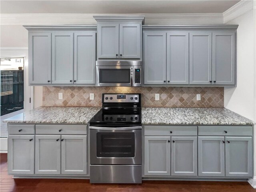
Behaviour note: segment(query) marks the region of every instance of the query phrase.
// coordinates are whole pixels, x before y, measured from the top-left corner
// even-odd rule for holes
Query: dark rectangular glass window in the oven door
[[[97,133],[97,157],[134,157],[133,132]]]

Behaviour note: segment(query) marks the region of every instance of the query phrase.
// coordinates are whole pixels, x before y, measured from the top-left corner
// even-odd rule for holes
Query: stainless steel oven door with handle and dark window
[[[90,126],[90,164],[141,164],[141,132],[141,126],[123,130]]]

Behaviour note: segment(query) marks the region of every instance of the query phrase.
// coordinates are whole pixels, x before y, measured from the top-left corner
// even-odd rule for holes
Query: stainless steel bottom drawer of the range
[[[90,165],[90,183],[141,183],[141,165]]]

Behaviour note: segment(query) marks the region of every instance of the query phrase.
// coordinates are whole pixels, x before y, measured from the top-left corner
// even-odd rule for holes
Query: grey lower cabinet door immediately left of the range
[[[61,174],[87,174],[87,136],[61,136]]]

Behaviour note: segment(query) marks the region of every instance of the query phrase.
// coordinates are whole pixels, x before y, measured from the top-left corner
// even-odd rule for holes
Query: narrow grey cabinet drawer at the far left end
[[[8,124],[8,134],[35,134],[35,125]]]

